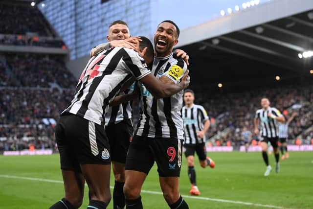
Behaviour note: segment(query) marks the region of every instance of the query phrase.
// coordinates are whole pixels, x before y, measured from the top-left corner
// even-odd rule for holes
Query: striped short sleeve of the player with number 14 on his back
[[[145,60],[133,49],[123,48],[123,61],[136,80],[151,73]]]

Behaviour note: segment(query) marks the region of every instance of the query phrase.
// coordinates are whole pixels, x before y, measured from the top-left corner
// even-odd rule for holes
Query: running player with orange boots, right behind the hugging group
[[[184,148],[185,156],[188,163],[188,177],[191,183],[191,195],[200,195],[196,183],[195,170],[195,152],[198,155],[201,167],[205,168],[208,165],[214,168],[215,163],[212,159],[206,156],[205,148],[205,133],[210,127],[210,120],[206,111],[201,105],[194,104],[195,93],[186,89],[183,99],[185,106],[182,108],[182,119],[184,124]]]

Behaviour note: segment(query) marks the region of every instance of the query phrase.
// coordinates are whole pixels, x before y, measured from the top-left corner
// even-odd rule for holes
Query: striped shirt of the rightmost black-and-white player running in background
[[[274,116],[282,116],[279,110],[273,107],[268,107],[268,110],[257,110],[255,117],[260,119],[261,136],[268,138],[278,137],[278,122],[276,119],[268,117],[268,113]]]

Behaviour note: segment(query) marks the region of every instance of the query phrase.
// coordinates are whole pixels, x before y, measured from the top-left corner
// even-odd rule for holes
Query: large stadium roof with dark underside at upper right
[[[190,55],[199,83],[310,76],[312,59],[299,54],[313,50],[313,0],[272,0],[221,16],[183,30],[177,48]]]

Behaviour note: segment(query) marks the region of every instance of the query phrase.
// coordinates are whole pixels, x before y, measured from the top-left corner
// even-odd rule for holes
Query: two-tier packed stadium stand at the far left
[[[0,3],[0,18],[0,45],[65,47],[37,7]],[[0,52],[0,151],[55,148],[54,125],[77,83],[65,59]]]

